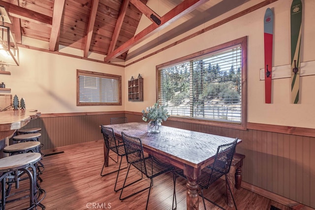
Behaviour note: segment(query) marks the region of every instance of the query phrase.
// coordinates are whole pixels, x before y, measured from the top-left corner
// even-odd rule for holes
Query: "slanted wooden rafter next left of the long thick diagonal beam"
[[[124,22],[124,18],[126,15],[126,11],[128,8],[128,4],[129,4],[129,0],[123,0],[122,6],[120,7],[120,12],[119,12],[119,16],[117,18],[117,22],[116,22],[116,26],[112,35],[112,40],[109,44],[109,48],[107,50],[107,55],[109,55],[110,53],[112,53],[115,50],[115,46],[118,40],[118,36],[119,36],[119,32],[122,29],[122,25]]]

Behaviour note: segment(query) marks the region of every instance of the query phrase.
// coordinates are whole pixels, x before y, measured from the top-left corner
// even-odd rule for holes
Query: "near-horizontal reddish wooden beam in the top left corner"
[[[6,11],[12,17],[52,27],[53,19],[47,15],[40,14],[38,12],[8,3],[3,0],[0,0],[0,5],[4,6]]]

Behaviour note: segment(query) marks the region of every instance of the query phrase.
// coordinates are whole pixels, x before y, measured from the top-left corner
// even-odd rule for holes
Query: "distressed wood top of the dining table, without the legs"
[[[149,133],[147,124],[146,122],[129,122],[106,126],[112,127],[119,137],[124,132],[140,138],[144,149],[155,151],[194,168],[212,161],[219,145],[234,141],[234,138],[164,125],[160,133]]]

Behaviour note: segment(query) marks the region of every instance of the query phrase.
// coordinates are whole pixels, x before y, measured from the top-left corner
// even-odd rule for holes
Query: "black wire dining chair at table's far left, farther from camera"
[[[116,185],[117,185],[117,180],[118,180],[119,172],[120,172],[120,170],[125,169],[125,168],[128,167],[128,166],[126,166],[125,168],[121,168],[123,157],[126,156],[125,148],[124,148],[124,145],[117,145],[117,143],[116,143],[116,138],[115,138],[115,133],[114,133],[113,128],[111,128],[111,127],[105,127],[104,125],[101,125],[101,132],[102,132],[103,137],[104,137],[105,146],[106,146],[106,148],[108,149],[108,152],[107,152],[107,154],[106,154],[106,158],[105,158],[105,159],[107,159],[107,157],[110,157],[110,156],[109,156],[109,151],[110,151],[110,150],[113,151],[113,152],[115,152],[118,156],[121,157],[121,158],[120,158],[120,163],[119,163],[119,168],[118,168],[118,170],[112,171],[112,172],[109,172],[109,173],[106,173],[106,174],[103,174],[103,170],[104,170],[104,168],[105,168],[105,160],[104,160],[104,164],[103,164],[103,167],[102,167],[102,171],[100,172],[100,176],[102,176],[102,177],[117,172],[117,177],[116,177],[115,187],[114,187],[115,192],[117,192],[117,191],[121,190],[121,188],[116,189]],[[113,159],[113,158],[112,158],[112,159]],[[113,159],[113,160],[114,160],[114,159]],[[114,161],[115,161],[115,160],[114,160]],[[115,161],[115,162],[116,162],[116,161]],[[118,162],[118,161],[117,161],[117,162]],[[116,163],[117,163],[117,162],[116,162]]]

